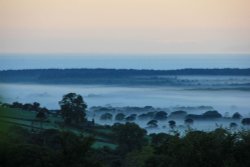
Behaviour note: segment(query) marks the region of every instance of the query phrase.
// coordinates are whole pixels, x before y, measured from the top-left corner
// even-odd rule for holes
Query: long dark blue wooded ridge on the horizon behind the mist
[[[183,75],[250,76],[247,69],[29,69],[2,70],[2,83],[41,84],[178,84],[174,77]],[[174,82],[174,83],[173,83]]]

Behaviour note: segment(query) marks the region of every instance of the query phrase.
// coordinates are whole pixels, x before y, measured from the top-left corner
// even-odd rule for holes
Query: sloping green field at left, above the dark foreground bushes
[[[22,127],[34,131],[57,129],[60,131],[71,131],[83,136],[93,136],[95,138],[94,148],[106,146],[114,149],[116,147],[109,139],[109,136],[112,134],[112,131],[109,129],[103,129],[101,126],[94,126],[86,129],[68,126],[61,127],[58,122],[63,122],[60,116],[55,117],[52,114],[48,114],[46,121],[41,124],[41,122],[36,119],[36,112],[0,106],[1,138],[9,134],[13,127]]]

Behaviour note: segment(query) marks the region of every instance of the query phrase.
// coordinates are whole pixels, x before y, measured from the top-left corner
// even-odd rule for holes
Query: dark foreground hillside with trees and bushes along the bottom
[[[6,115],[15,112],[13,115]],[[20,112],[20,114],[18,113]],[[91,129],[47,126],[31,129],[30,111],[0,108],[1,167],[246,167],[250,132],[189,131],[147,135],[135,123],[102,127],[117,147],[95,147]],[[34,115],[34,114],[33,114]],[[20,117],[29,117],[20,119]],[[57,118],[58,119],[58,118]],[[53,121],[52,121],[53,122]],[[92,126],[92,129],[97,127]],[[85,133],[90,135],[84,135]],[[91,135],[92,133],[92,135]]]

